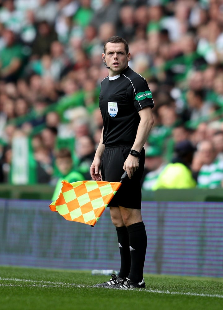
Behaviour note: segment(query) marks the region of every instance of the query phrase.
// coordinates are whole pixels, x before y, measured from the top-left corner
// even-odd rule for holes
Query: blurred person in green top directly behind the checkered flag
[[[84,180],[84,176],[81,175],[80,172],[77,172],[73,169],[73,161],[72,161],[72,156],[71,156],[71,152],[68,149],[60,149],[57,153],[56,153],[56,167],[59,170],[60,173],[60,177],[56,180],[52,180],[52,184],[55,184],[56,182],[56,186],[55,186],[55,190],[52,196],[52,201],[56,200],[60,189],[61,189],[61,181],[62,180],[66,180],[69,183],[72,182],[77,182],[77,181],[82,181]]]

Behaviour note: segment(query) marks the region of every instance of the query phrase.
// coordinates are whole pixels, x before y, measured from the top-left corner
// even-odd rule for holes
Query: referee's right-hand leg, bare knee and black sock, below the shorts
[[[147,237],[145,225],[142,222],[140,209],[120,207],[123,223],[129,234],[129,250],[131,268],[127,276],[131,281],[139,283],[143,279],[143,268],[146,256]]]

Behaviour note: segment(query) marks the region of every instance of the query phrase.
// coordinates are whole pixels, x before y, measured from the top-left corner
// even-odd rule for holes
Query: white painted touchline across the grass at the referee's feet
[[[1,283],[1,281],[18,281],[30,283],[26,285],[25,283],[14,284],[14,283]],[[10,286],[10,287],[74,287],[74,288],[95,288],[94,286],[85,285],[85,284],[75,284],[75,283],[65,283],[65,282],[54,282],[54,281],[43,281],[43,280],[31,280],[31,279],[17,279],[17,278],[1,278],[0,277],[0,286]],[[98,289],[98,288],[96,288]],[[101,289],[101,288],[99,288]],[[103,288],[104,289],[104,288]],[[134,290],[134,289],[130,289]],[[138,290],[148,293],[158,293],[158,294],[168,294],[168,295],[187,295],[187,296],[198,296],[198,297],[216,297],[223,298],[223,295],[219,294],[203,294],[203,293],[192,293],[192,292],[170,292],[168,290],[152,290],[152,289],[142,289]]]

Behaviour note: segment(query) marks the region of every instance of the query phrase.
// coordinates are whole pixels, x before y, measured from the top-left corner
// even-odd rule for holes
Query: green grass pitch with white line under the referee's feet
[[[0,266],[1,310],[222,310],[223,279],[145,275],[144,290],[92,287],[90,271]]]

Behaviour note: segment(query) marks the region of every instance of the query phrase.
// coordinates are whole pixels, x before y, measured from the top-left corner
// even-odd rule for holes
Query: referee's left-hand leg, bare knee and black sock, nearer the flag
[[[125,278],[128,277],[131,266],[131,256],[129,251],[129,232],[123,223],[119,208],[110,207],[110,213],[112,223],[116,227],[121,257],[119,277]]]

